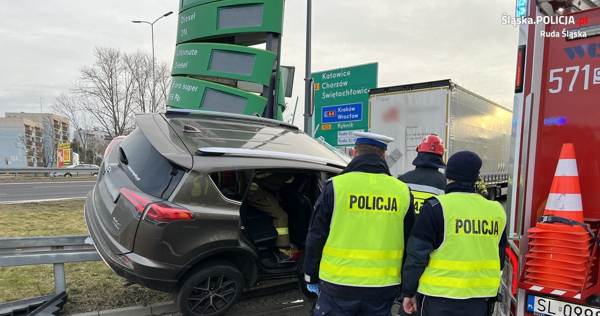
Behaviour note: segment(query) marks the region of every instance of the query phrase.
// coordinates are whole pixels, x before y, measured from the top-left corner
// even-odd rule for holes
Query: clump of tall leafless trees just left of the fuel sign
[[[62,109],[57,112],[74,122],[76,133],[86,129],[83,125],[89,122],[83,118],[87,117],[92,118],[89,125],[111,137],[126,135],[135,127],[134,113],[152,109],[152,55],[141,50],[124,53],[112,47],[95,47],[94,56],[94,65],[79,69],[71,94],[56,98],[57,109]],[[170,82],[170,63],[157,61],[157,112],[166,110]],[[76,109],[85,113],[76,113]]]

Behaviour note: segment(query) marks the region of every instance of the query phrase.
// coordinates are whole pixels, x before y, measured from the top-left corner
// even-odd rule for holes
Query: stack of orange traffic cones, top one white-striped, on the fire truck
[[[542,215],[583,223],[573,144],[563,144]],[[526,255],[525,282],[565,291],[581,291],[589,277],[587,266],[592,256],[589,233],[583,227],[560,222],[538,222],[527,232],[531,242]],[[566,274],[565,271],[571,273]]]

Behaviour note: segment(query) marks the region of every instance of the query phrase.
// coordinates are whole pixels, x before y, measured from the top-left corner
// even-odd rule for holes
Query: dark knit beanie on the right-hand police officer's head
[[[460,151],[448,158],[446,162],[446,179],[456,182],[473,182],[479,177],[482,161],[471,151]]]

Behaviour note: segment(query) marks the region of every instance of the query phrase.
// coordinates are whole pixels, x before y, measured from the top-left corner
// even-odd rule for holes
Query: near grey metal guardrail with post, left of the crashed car
[[[66,290],[65,263],[101,260],[89,236],[0,238],[0,267],[54,265],[55,293]]]

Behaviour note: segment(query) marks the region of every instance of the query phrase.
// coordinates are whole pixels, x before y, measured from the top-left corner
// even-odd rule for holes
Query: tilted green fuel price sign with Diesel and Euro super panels
[[[167,106],[283,119],[283,7],[284,0],[179,0]]]

